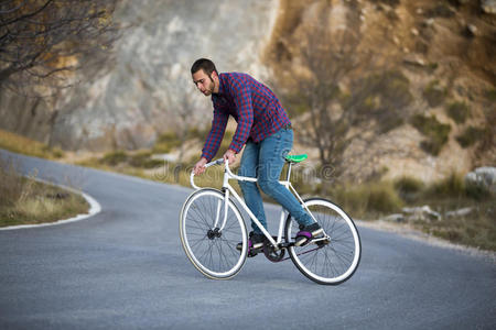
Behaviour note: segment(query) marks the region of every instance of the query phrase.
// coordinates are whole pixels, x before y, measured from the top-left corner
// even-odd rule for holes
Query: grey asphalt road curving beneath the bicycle
[[[362,263],[342,285],[260,255],[235,278],[212,280],[180,243],[191,189],[17,157],[25,173],[80,186],[101,212],[0,231],[0,329],[496,328],[487,258],[358,227]]]

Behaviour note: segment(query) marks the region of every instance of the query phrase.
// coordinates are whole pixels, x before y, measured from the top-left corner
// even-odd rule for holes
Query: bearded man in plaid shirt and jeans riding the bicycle
[[[240,73],[218,74],[215,64],[206,58],[197,59],[191,74],[196,88],[205,96],[212,96],[214,119],[212,130],[202,150],[201,160],[194,166],[195,175],[202,174],[217,153],[229,116],[238,123],[224,160],[236,161],[242,146],[245,151],[238,175],[257,177],[263,193],[278,201],[300,224],[295,245],[306,243],[323,232],[303,209],[296,198],[279,183],[287,154],[293,145],[291,122],[276,95],[251,76]],[[267,228],[266,213],[256,183],[240,182],[246,205]],[[250,254],[263,246],[265,235],[251,221]]]

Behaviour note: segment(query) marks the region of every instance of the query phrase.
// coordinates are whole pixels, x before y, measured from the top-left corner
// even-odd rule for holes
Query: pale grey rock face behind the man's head
[[[129,28],[117,44],[112,66],[60,98],[56,110],[0,96],[4,105],[0,128],[67,150],[98,151],[147,147],[160,132],[207,123],[212,106],[191,82],[192,63],[208,57],[219,72],[247,72],[263,79],[259,57],[277,4],[277,0],[123,1],[117,16]],[[30,117],[26,108],[37,108],[31,120],[24,118]],[[21,122],[22,111],[28,113]],[[41,127],[22,129],[35,121]]]

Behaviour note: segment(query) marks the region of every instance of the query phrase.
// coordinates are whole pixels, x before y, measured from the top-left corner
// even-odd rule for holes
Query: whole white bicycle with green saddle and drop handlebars
[[[266,235],[263,254],[271,262],[281,262],[285,251],[308,278],[326,285],[347,280],[358,267],[362,244],[358,231],[338,206],[322,198],[302,200],[290,183],[291,166],[306,158],[306,155],[287,156],[289,163],[287,179],[280,182],[300,200],[302,206],[324,229],[324,234],[311,239],[303,246],[294,245],[298,223],[281,208],[279,231],[272,237],[250,211],[245,201],[229,185],[229,179],[257,182],[257,178],[237,176],[225,162],[222,190],[200,188],[191,174],[191,185],[196,189],[183,205],[180,216],[180,234],[183,249],[193,265],[213,279],[227,279],[237,275],[249,253],[245,221],[231,197],[245,209]],[[220,165],[224,160],[206,164]],[[237,249],[241,243],[241,249]]]

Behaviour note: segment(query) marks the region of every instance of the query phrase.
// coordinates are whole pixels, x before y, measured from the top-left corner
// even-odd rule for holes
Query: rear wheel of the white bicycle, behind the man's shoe
[[[362,244],[355,223],[333,202],[312,198],[304,201],[315,220],[324,229],[325,238],[314,239],[303,246],[290,246],[294,265],[310,279],[326,285],[347,280],[358,267]],[[285,239],[294,242],[298,223],[288,216]]]

